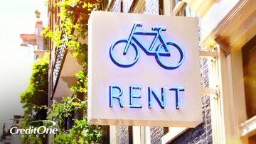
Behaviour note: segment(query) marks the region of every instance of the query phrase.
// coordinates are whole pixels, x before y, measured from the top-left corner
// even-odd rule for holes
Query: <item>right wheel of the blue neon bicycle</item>
[[[156,62],[167,70],[174,70],[181,66],[185,59],[185,52],[182,46],[174,41],[168,41],[166,45],[168,48],[164,48],[162,43],[156,48]]]

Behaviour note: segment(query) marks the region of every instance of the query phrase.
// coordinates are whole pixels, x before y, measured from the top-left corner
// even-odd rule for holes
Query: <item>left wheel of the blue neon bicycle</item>
[[[130,43],[127,52],[124,53],[127,43],[127,39],[117,40],[110,48],[110,58],[119,67],[132,67],[139,59],[139,49],[134,43]]]

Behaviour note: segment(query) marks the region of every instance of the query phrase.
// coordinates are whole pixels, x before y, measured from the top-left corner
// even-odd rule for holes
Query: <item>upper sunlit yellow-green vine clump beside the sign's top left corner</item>
[[[73,50],[73,56],[87,55],[87,44],[82,41],[87,38],[87,24],[90,13],[97,9],[100,1],[98,0],[66,0],[58,1],[53,6],[61,9],[58,16],[60,17],[60,26],[55,26],[53,30],[45,28],[42,32],[45,37],[51,38],[58,47],[60,43],[66,43],[68,48]],[[65,31],[68,39],[61,39],[61,32]],[[73,33],[75,31],[75,33]]]

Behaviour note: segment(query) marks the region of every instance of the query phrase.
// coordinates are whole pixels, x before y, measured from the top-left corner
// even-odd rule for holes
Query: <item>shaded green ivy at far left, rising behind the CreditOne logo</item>
[[[21,128],[39,126],[40,123],[29,123],[46,119],[48,103],[48,63],[49,54],[34,63],[28,88],[21,94],[24,116],[21,118]],[[42,136],[22,135],[21,140],[26,143],[43,143]]]

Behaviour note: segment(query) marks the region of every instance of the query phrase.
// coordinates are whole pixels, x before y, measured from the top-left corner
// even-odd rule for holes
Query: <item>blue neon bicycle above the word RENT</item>
[[[185,58],[185,52],[183,50],[183,47],[176,43],[175,41],[166,41],[164,40],[163,35],[161,34],[162,31],[166,31],[166,27],[164,26],[154,26],[152,28],[152,31],[136,31],[137,27],[142,27],[142,23],[134,23],[134,26],[132,27],[132,31],[129,35],[129,38],[123,38],[115,41],[112,46],[110,47],[110,58],[112,62],[114,62],[115,65],[119,67],[132,67],[138,60],[139,60],[139,48],[141,48],[146,55],[152,55],[155,56],[156,62],[167,70],[174,70],[181,66],[183,63],[183,60]],[[140,41],[136,35],[153,35],[154,39],[149,46],[149,48],[146,48],[146,46]],[[160,44],[156,46],[154,49],[154,46],[156,45],[156,41],[159,40]],[[127,52],[130,48],[134,48],[135,51],[135,57],[133,60],[130,60],[131,62],[120,62],[117,57],[114,55],[114,48],[117,47],[119,43],[124,43],[124,50],[122,51],[122,55],[127,55]],[[135,44],[136,43],[136,44]],[[171,50],[169,47],[174,47],[176,50],[178,50],[179,54],[179,60],[175,64],[167,64],[163,57],[171,57]],[[138,48],[139,47],[139,48]],[[121,47],[122,48],[122,47]]]

